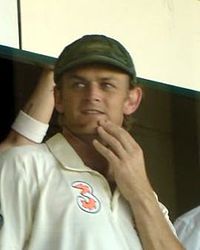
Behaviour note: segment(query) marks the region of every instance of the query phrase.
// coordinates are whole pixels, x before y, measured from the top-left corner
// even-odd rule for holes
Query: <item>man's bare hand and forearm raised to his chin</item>
[[[143,249],[184,249],[160,209],[140,146],[128,132],[111,122],[100,122],[97,131],[107,146],[97,140],[94,146],[108,160],[110,172],[131,206]]]

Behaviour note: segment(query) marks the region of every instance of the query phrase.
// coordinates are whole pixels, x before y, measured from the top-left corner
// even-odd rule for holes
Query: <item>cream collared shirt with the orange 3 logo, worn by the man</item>
[[[1,250],[142,249],[127,202],[61,134],[6,151],[0,166]]]

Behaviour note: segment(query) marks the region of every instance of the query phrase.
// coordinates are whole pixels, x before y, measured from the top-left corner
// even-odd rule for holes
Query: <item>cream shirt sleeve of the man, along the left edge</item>
[[[0,156],[1,250],[22,250],[29,239],[35,201],[27,164],[26,157],[13,150]]]

